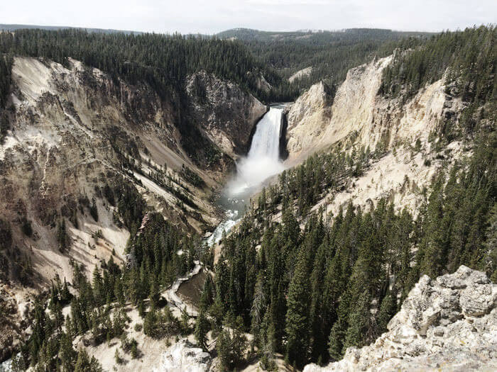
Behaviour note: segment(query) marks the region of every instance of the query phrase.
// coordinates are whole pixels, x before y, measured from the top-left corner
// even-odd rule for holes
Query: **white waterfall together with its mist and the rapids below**
[[[280,161],[280,133],[283,106],[271,106],[257,123],[249,154],[236,164],[236,175],[228,182],[219,205],[226,210],[226,218],[206,239],[210,247],[222,239],[244,215],[248,199],[266,179],[285,169]]]

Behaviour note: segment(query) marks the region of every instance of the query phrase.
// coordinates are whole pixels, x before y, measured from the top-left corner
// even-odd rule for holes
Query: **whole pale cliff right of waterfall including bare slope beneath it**
[[[396,208],[408,207],[415,213],[420,205],[417,191],[429,186],[440,169],[449,169],[468,154],[461,142],[442,147],[430,139],[441,120],[457,120],[465,107],[443,79],[408,101],[378,94],[383,69],[392,59],[350,69],[336,94],[322,82],[315,84],[288,109],[288,166],[329,148],[376,154],[364,173],[341,191],[329,193],[314,209],[327,205],[327,212],[337,213],[350,199],[368,207],[371,201],[390,196]]]

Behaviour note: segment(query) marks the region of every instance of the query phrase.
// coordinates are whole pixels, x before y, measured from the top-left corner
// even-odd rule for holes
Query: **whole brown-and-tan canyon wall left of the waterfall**
[[[71,280],[71,259],[88,272],[110,257],[124,261],[129,231],[111,196],[126,186],[185,231],[219,222],[212,189],[266,107],[236,84],[196,76],[190,83],[202,82],[206,101],[189,83],[198,121],[188,123],[227,153],[209,169],[184,150],[173,97],[76,60],[15,59],[10,129],[0,144],[0,302],[8,304],[10,325],[55,275]],[[0,338],[5,351],[22,327],[10,328]]]

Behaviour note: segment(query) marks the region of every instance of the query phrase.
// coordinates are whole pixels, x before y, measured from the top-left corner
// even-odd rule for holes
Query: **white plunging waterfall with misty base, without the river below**
[[[257,123],[249,154],[236,164],[237,174],[229,183],[229,194],[238,196],[283,171],[280,162],[280,133],[283,108],[273,106]]]

